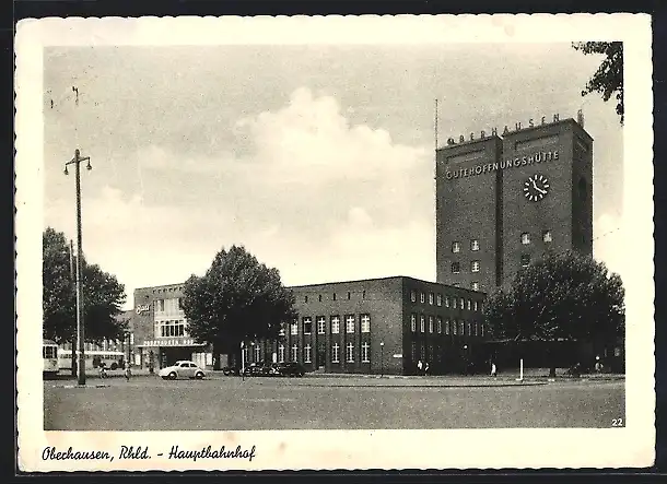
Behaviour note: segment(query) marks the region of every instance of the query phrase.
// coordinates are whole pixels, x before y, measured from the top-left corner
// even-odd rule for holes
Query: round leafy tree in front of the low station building
[[[278,270],[237,246],[222,249],[203,276],[188,279],[182,305],[188,332],[212,343],[214,354],[234,352],[248,340],[273,340],[296,317],[294,296]]]

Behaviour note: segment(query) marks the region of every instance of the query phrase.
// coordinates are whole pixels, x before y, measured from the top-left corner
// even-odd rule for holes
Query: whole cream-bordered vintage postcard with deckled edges
[[[650,25],[22,21],[20,468],[650,465]]]

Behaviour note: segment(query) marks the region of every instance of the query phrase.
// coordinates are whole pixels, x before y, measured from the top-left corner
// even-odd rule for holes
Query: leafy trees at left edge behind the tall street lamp
[[[43,333],[58,344],[77,341],[77,257],[65,234],[48,227],[43,234]],[[125,287],[116,276],[82,260],[82,296],[85,340],[121,338],[127,322],[117,319],[125,303]],[[72,358],[72,371],[75,371]]]

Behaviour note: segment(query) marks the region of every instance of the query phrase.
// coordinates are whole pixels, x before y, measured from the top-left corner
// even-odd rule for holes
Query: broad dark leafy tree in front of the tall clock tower
[[[604,263],[572,251],[549,253],[492,294],[484,318],[495,340],[605,344],[623,334],[623,298],[621,278]]]

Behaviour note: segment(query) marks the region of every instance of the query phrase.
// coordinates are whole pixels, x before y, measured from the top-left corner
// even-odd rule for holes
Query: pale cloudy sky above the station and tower
[[[441,145],[583,109],[594,257],[615,271],[622,128],[581,95],[600,61],[569,43],[47,47],[44,226],[75,240],[80,147],[83,249],[126,308],[231,245],[285,285],[435,280],[434,101]]]

